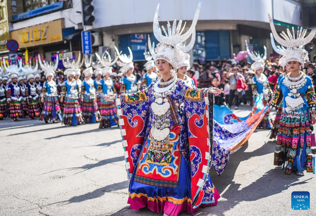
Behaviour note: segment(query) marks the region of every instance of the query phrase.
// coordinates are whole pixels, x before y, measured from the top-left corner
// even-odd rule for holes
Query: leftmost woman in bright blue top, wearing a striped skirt
[[[57,84],[53,80],[54,71],[45,72],[46,82],[43,85],[42,93],[40,94],[41,102],[43,105],[43,111],[40,115],[39,120],[52,121],[53,123],[57,123],[57,118],[62,121],[61,110],[58,101],[58,89]]]

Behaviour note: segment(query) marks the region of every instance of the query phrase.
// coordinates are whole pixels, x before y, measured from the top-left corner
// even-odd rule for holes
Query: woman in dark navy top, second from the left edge
[[[12,121],[16,121],[17,117],[22,117],[22,108],[21,108],[21,102],[22,102],[22,96],[21,96],[21,88],[20,85],[17,83],[18,75],[12,73],[10,75],[11,83],[8,85],[6,89],[6,97],[7,97],[7,103],[9,104],[9,111],[10,111],[10,117],[12,118]]]

